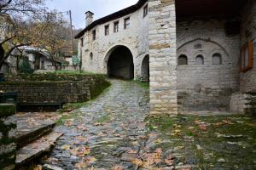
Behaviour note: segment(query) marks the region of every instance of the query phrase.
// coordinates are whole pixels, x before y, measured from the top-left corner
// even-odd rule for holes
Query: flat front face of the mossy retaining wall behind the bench
[[[18,103],[76,103],[90,99],[86,82],[0,82],[5,93],[18,94]]]

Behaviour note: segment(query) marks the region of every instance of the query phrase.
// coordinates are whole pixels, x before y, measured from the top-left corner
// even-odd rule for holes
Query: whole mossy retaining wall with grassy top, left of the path
[[[0,90],[17,93],[18,103],[80,103],[110,85],[98,75],[17,75],[6,80],[0,82]]]

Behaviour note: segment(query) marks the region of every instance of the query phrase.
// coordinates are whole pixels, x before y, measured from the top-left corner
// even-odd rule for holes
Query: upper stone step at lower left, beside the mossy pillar
[[[32,143],[34,140],[40,139],[42,136],[50,133],[55,127],[54,121],[35,122],[29,125],[26,122],[18,121],[17,124],[17,148]]]

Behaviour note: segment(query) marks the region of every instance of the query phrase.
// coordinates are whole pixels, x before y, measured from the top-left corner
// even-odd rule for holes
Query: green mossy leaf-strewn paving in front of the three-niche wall
[[[194,162],[201,169],[254,169],[256,120],[250,116],[148,117],[148,133],[158,132],[155,148],[177,149],[177,162]],[[186,153],[185,155],[183,153]],[[189,158],[189,159],[188,159]],[[224,160],[219,162],[218,160]],[[209,167],[211,165],[212,167]]]

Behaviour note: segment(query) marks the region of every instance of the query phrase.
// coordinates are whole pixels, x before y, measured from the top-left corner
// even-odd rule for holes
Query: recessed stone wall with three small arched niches
[[[240,37],[227,36],[225,20],[177,23],[177,59],[186,55],[187,65],[177,65],[178,105],[182,110],[229,110],[231,94],[239,89]],[[221,64],[212,56],[219,54]],[[196,57],[201,56],[202,62]]]

